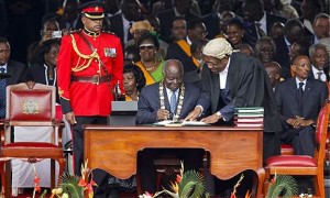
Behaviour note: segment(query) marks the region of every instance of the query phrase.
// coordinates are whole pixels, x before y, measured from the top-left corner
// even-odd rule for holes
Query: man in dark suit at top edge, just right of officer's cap
[[[129,40],[133,38],[130,29],[134,21],[142,21],[143,15],[138,0],[122,0],[120,4],[121,13],[109,18],[110,30],[120,37],[124,45]]]

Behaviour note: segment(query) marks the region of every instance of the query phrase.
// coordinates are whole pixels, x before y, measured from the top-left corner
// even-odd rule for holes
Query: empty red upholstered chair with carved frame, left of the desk
[[[64,172],[65,158],[62,148],[61,121],[55,119],[55,87],[33,81],[7,87],[7,114],[4,120],[4,143],[1,145],[1,158],[4,165],[4,196],[11,196],[11,158],[29,163],[51,158],[51,188],[55,187],[55,161],[59,165],[59,176]],[[33,130],[50,127],[51,142],[13,142],[14,128]],[[33,127],[33,128],[31,128]]]

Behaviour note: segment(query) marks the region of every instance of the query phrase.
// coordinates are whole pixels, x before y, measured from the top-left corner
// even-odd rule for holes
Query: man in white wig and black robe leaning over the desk
[[[264,161],[279,154],[282,131],[274,94],[262,64],[242,53],[233,53],[224,38],[211,40],[202,50],[202,90],[211,101],[211,116],[206,123],[231,124],[235,107],[264,107]],[[253,74],[253,75],[252,75]],[[194,120],[198,109],[186,118]]]

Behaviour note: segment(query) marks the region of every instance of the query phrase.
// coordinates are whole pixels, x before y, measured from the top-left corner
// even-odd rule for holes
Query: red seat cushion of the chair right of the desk
[[[268,166],[304,166],[304,167],[316,167],[317,161],[308,155],[278,155],[272,156],[266,161]]]

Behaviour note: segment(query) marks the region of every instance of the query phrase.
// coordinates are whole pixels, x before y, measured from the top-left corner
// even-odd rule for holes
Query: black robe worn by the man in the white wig
[[[213,74],[208,67],[201,70],[202,91],[211,101],[211,113],[219,111],[220,97],[219,75]],[[263,65],[254,57],[242,53],[233,53],[230,56],[230,65],[227,76],[226,92],[230,97],[230,106],[233,107],[264,107],[264,131],[282,131],[279,116],[275,106],[274,92]],[[228,118],[233,117],[233,112]],[[228,121],[228,120],[227,120]]]

